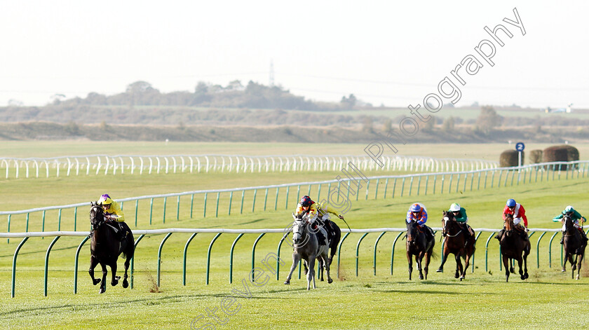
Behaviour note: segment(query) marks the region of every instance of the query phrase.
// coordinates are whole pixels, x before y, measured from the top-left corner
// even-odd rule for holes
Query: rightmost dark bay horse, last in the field
[[[562,245],[564,247],[564,263],[562,264],[562,272],[567,271],[567,261],[571,263],[572,274],[571,278],[575,278],[575,270],[577,270],[576,280],[579,278],[581,273],[581,261],[585,256],[585,247],[587,247],[587,241],[583,238],[583,235],[575,228],[573,219],[565,215],[562,217],[564,233],[562,233],[563,240]],[[573,259],[574,256],[574,259]]]

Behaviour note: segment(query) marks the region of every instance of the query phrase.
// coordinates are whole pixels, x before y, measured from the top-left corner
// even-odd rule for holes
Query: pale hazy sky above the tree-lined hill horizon
[[[525,35],[503,22],[517,8]],[[422,104],[499,32],[494,67],[463,74],[456,106],[589,108],[588,1],[4,1],[0,106],[55,94],[162,92],[274,81],[297,95]],[[444,99],[447,102],[447,99]]]

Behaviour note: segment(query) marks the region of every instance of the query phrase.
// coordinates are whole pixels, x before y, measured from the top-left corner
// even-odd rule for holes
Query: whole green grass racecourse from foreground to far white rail
[[[110,146],[117,145],[116,150]],[[243,149],[239,149],[242,147]],[[3,156],[34,157],[65,154],[170,154],[170,153],[349,153],[363,152],[360,145],[287,144],[144,144],[104,142],[6,142],[0,151]],[[411,146],[404,154],[436,157],[485,158],[496,160],[508,145],[419,145]],[[541,149],[544,146],[527,146]],[[586,159],[589,146],[577,146],[581,159]],[[173,150],[170,150],[172,148]],[[88,152],[92,149],[93,152]],[[414,153],[408,150],[414,151]],[[49,205],[65,205],[96,200],[104,191],[114,198],[139,195],[193,191],[206,188],[236,188],[265,184],[329,180],[337,172],[313,174],[153,174],[64,177],[49,179],[0,179],[0,210],[27,209]],[[383,172],[366,173],[384,175]],[[474,228],[500,228],[501,211],[508,198],[515,198],[527,210],[529,227],[559,228],[551,221],[566,205],[574,205],[581,214],[589,214],[587,191],[589,178],[542,181],[517,186],[501,186],[480,191],[462,191],[435,195],[398,194],[394,198],[382,193],[374,199],[370,194],[352,201],[346,221],[352,228],[404,228],[407,207],[421,201],[428,207],[428,225],[440,226],[441,210],[452,202],[459,202],[468,211],[469,224]],[[258,196],[259,198],[259,196]],[[226,201],[223,201],[226,202]],[[183,200],[179,220],[161,220],[163,205],[154,203],[158,219],[149,226],[140,213],[140,229],[152,228],[285,228],[290,224],[290,213],[295,198],[280,200],[275,211],[264,212],[259,204],[255,212],[232,212],[226,209],[203,219],[199,209],[191,219]],[[125,205],[128,209],[131,205]],[[250,205],[246,204],[246,207]],[[129,211],[126,215],[129,218]],[[175,202],[167,212],[175,213]],[[80,209],[80,228],[86,228],[86,211]],[[133,213],[132,213],[133,214]],[[175,215],[175,214],[174,214]],[[55,214],[48,220],[46,230],[56,230]],[[71,231],[72,215],[64,214],[62,230]],[[49,219],[49,218],[48,218]],[[154,217],[156,219],[156,217]],[[24,228],[22,216],[15,216],[11,231]],[[6,216],[0,217],[0,228],[6,231]],[[132,221],[128,219],[128,223]],[[39,230],[38,216],[32,217],[31,229]],[[338,221],[341,227],[343,222]],[[132,226],[133,228],[133,226]],[[584,263],[581,280],[571,280],[570,267],[560,273],[560,233],[551,245],[546,234],[539,244],[539,233],[532,236],[532,253],[528,258],[529,279],[522,281],[511,275],[505,282],[499,270],[499,244],[489,242],[488,263],[485,265],[485,242],[490,233],[482,233],[475,254],[474,273],[468,270],[466,280],[454,279],[454,261],[445,265],[445,273],[435,273],[440,265],[440,234],[435,251],[438,258],[430,265],[428,280],[413,280],[407,276],[405,241],[395,247],[391,275],[391,247],[396,233],[386,233],[377,248],[376,275],[373,268],[374,242],[379,233],[370,233],[360,245],[356,259],[356,245],[363,234],[348,236],[341,249],[339,277],[337,261],[332,265],[334,282],[317,282],[318,289],[306,291],[306,280],[299,280],[298,270],[289,286],[283,282],[290,268],[292,248],[283,244],[279,278],[272,275],[262,260],[276,253],[281,234],[266,234],[257,244],[255,266],[266,270],[258,285],[248,280],[252,267],[252,245],[256,234],[244,235],[236,245],[233,256],[233,281],[229,283],[229,247],[236,234],[223,234],[212,248],[210,284],[205,285],[207,249],[214,234],[198,234],[192,241],[187,257],[187,284],[182,285],[182,252],[189,234],[175,233],[163,247],[161,256],[161,285],[157,285],[157,250],[163,235],[146,236],[137,246],[134,289],[107,286],[105,294],[98,294],[88,277],[88,243],[81,251],[78,269],[78,293],[74,294],[74,254],[82,238],[60,238],[50,254],[48,267],[48,296],[43,296],[43,270],[46,249],[51,238],[30,238],[18,255],[15,298],[11,298],[11,267],[15,248],[20,239],[0,241],[0,329],[587,329],[589,313],[586,307],[589,294],[589,266]],[[538,258],[539,264],[536,263]],[[358,261],[358,276],[356,276]],[[550,267],[551,262],[551,267]],[[275,266],[275,263],[273,264]],[[119,262],[121,275],[122,262]],[[485,270],[487,268],[487,270]],[[100,275],[100,267],[96,269]],[[227,298],[227,297],[234,298]],[[231,314],[222,311],[224,308]],[[199,316],[203,316],[198,319]]]

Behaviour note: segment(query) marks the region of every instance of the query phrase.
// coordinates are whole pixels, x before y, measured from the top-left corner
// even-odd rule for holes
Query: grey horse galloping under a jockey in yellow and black
[[[293,217],[295,217],[294,214]],[[311,289],[311,280],[313,281],[313,289],[317,289],[315,285],[315,259],[323,261],[325,270],[327,270],[327,282],[333,282],[328,261],[330,242],[327,241],[327,232],[324,228],[320,226],[311,228],[306,219],[295,217],[294,226],[292,226],[292,242],[294,243],[292,247],[295,249],[292,252],[292,266],[290,266],[290,273],[288,273],[284,284],[290,284],[292,272],[295,271],[301,259],[304,259],[309,266],[309,271],[306,274],[307,290]]]

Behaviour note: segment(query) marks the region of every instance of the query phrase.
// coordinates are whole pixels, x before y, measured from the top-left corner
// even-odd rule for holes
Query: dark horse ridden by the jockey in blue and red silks
[[[428,230],[427,228],[425,230]],[[411,280],[411,273],[413,272],[412,256],[415,256],[415,263],[417,263],[417,270],[419,270],[419,280],[428,279],[428,269],[435,245],[435,238],[427,239],[426,233],[421,231],[417,226],[417,221],[407,223],[407,262],[409,263],[409,281]],[[424,257],[426,263],[424,265],[424,273],[421,272],[421,261]]]

